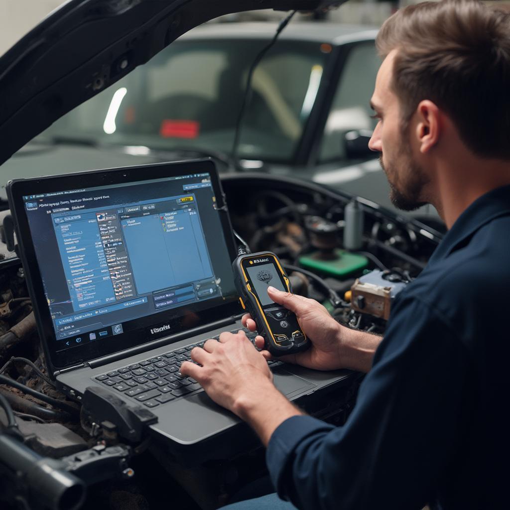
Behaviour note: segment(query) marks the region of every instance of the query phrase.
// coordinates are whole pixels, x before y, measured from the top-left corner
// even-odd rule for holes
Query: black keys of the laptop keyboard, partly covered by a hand
[[[231,333],[237,333],[240,329],[254,344],[257,333],[252,333],[246,328],[233,329]],[[211,338],[219,340],[219,335]],[[209,337],[206,340],[209,340]],[[191,349],[203,347],[206,340],[97,375],[94,379],[147,407],[156,407],[184,395],[203,391],[195,379],[186,377],[179,369],[183,361],[191,361]],[[268,361],[270,366],[275,364],[280,365],[281,362]]]

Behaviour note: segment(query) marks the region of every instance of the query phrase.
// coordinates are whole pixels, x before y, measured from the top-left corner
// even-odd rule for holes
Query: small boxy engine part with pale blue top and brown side
[[[388,279],[391,274],[375,270],[356,279],[351,287],[352,310],[388,320],[393,299],[407,285]]]

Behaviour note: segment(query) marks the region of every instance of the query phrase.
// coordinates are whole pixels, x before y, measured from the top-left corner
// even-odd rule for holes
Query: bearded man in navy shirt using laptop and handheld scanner
[[[191,351],[199,365],[182,372],[254,428],[289,501],[234,508],[508,507],[510,19],[475,0],[422,3],[387,20],[377,47],[370,148],[394,203],[431,203],[449,232],[400,294],[382,341],[269,288],[313,341],[287,361],[368,372],[343,427],[288,402],[269,353],[243,333]]]

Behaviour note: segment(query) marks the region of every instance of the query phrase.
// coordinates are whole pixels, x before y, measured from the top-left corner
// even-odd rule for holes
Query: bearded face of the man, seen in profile
[[[393,205],[413,211],[427,203],[424,187],[429,181],[413,156],[411,125],[402,121],[398,98],[391,90],[395,54],[393,50],[377,73],[370,104],[378,122],[368,146],[380,152],[379,163],[390,184]]]

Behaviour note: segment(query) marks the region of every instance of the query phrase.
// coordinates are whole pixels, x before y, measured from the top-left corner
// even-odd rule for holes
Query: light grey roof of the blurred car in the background
[[[240,22],[205,23],[182,35],[180,40],[191,39],[270,39],[278,23]],[[330,22],[294,22],[278,36],[278,39],[327,42],[341,45],[349,42],[375,39],[377,29],[367,25],[347,25]]]

